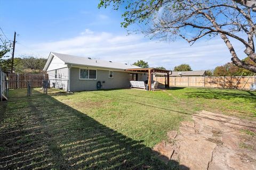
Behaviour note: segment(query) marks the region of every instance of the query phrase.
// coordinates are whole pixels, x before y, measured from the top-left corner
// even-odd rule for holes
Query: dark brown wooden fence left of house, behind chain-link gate
[[[48,79],[48,74],[8,74],[9,89],[27,88],[28,82],[32,88],[42,87],[45,79]]]

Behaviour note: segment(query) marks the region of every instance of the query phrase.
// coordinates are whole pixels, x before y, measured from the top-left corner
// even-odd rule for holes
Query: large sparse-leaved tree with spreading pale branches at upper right
[[[143,33],[166,40],[183,38],[193,45],[196,40],[219,36],[226,44],[231,60],[238,67],[256,73],[256,66],[244,63],[231,40],[244,47],[244,53],[256,63],[255,2],[249,0],[101,0],[99,7],[124,6],[122,14],[127,28],[133,23],[145,25]]]

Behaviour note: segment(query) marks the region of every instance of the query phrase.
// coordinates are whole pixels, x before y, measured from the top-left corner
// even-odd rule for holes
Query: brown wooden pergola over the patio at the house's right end
[[[167,88],[169,88],[169,74],[170,70],[162,70],[162,69],[156,69],[156,68],[139,68],[139,69],[126,69],[125,71],[129,72],[142,72],[142,73],[148,73],[148,90],[151,90],[151,73],[167,73]]]

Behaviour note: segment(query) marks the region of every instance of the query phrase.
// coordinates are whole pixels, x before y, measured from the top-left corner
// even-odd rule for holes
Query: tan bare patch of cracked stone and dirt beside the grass
[[[154,147],[166,164],[175,160],[181,169],[256,169],[256,122],[207,111],[192,118]]]

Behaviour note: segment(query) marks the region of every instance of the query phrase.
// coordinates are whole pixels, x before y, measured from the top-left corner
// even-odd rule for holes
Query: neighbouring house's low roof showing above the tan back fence
[[[172,71],[171,74],[169,74],[170,77],[205,77],[205,70],[201,71]],[[164,77],[166,74],[163,73],[156,73],[155,77]]]

